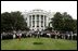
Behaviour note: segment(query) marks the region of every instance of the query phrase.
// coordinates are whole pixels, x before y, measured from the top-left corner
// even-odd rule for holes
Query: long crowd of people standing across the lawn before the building
[[[35,38],[40,38],[40,37],[47,37],[47,38],[55,38],[55,39],[75,39],[77,40],[77,34],[73,33],[60,33],[60,31],[50,31],[50,30],[29,30],[29,31],[22,31],[22,30],[13,30],[12,33],[2,33],[1,34],[1,39],[15,39],[18,38],[27,38],[27,37],[35,37]]]

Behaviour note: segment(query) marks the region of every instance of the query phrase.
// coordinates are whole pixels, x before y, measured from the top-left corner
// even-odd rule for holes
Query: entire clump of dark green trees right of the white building
[[[52,18],[52,25],[55,30],[63,30],[63,31],[76,31],[77,30],[77,21],[73,20],[73,17],[64,12],[61,14],[56,12],[54,17]]]

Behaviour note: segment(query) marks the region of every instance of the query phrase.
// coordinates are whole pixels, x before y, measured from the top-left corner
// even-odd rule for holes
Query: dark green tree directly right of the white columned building
[[[52,18],[52,25],[53,28],[55,30],[61,30],[63,27],[63,17],[62,14],[60,12],[56,12],[56,14],[54,15],[54,17]]]

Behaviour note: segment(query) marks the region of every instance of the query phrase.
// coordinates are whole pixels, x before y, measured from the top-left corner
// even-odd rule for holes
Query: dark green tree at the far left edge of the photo
[[[2,30],[11,30],[11,15],[10,13],[5,12],[1,14],[1,31]]]

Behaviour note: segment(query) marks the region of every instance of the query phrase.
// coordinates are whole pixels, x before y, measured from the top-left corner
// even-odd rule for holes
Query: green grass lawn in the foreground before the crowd
[[[52,38],[22,38],[21,41],[10,39],[1,40],[1,50],[77,50],[77,41]]]

